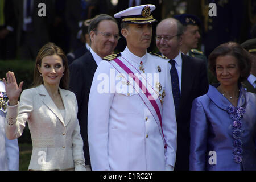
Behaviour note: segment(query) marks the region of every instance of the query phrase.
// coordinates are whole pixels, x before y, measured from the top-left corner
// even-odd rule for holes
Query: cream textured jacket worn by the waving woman
[[[59,92],[65,107],[65,119],[44,85],[24,90],[19,104],[7,106],[7,138],[20,137],[28,121],[33,147],[28,169],[72,169],[77,160],[84,160],[76,96],[60,88]]]

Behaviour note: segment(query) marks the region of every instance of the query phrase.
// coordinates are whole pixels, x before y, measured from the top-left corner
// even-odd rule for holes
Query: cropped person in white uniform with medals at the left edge
[[[19,146],[18,140],[9,140],[5,135],[5,117],[7,96],[5,85],[0,80],[0,171],[19,170]]]

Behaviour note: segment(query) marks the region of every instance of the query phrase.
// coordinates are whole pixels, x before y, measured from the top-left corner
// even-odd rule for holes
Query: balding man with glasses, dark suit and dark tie
[[[208,91],[205,61],[181,53],[183,25],[174,18],[156,27],[156,46],[169,60],[177,121],[177,157],[174,170],[189,169],[189,122],[192,101]]]

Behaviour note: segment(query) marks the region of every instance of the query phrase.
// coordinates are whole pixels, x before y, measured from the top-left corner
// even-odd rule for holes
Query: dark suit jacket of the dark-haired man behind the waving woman
[[[84,140],[84,156],[86,165],[90,165],[90,155],[87,135],[87,114],[90,86],[97,64],[93,59],[92,53],[87,51],[85,55],[73,61],[69,65],[70,70],[70,89],[76,94],[77,104],[79,107],[77,118],[80,124],[80,133]]]

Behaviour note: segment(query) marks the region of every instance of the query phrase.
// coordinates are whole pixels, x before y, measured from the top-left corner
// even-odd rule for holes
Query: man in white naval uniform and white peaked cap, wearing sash
[[[168,60],[147,52],[154,5],[130,7],[121,18],[127,47],[105,57],[88,107],[92,170],[173,170],[177,126]],[[106,61],[107,60],[107,61]]]

